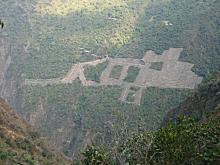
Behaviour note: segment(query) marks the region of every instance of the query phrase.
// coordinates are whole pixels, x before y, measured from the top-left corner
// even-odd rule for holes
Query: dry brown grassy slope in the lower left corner
[[[0,164],[71,164],[0,98]]]

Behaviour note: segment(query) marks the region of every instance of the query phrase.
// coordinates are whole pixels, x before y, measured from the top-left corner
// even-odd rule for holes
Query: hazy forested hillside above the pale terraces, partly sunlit
[[[93,59],[91,54],[141,58],[147,50],[161,53],[170,47],[184,48],[181,60],[206,76],[219,69],[219,3],[2,1],[7,26],[2,35],[15,43],[11,72],[20,70],[28,78],[59,77],[72,63]]]

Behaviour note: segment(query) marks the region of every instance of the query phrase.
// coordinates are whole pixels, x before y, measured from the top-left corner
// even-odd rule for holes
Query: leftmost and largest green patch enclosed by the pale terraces
[[[108,63],[104,62],[96,66],[86,66],[85,71],[84,71],[84,75],[86,79],[99,83],[102,71],[107,67],[107,65]]]

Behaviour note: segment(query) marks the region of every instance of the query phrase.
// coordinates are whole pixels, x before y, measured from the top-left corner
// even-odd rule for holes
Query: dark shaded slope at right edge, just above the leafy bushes
[[[178,116],[184,115],[196,118],[198,120],[205,119],[207,113],[220,108],[220,72],[212,75],[199,89],[191,96],[183,101],[180,106],[170,110],[164,117],[163,124],[168,121],[175,121]]]

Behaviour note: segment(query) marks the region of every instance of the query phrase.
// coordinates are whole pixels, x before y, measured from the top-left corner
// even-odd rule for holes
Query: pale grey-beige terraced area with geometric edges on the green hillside
[[[157,55],[153,51],[148,51],[142,59],[132,58],[104,58],[91,62],[74,64],[72,69],[62,78],[47,79],[47,80],[25,80],[25,85],[56,85],[72,83],[76,78],[79,78],[84,86],[122,86],[121,101],[126,103],[135,103],[140,105],[142,91],[147,87],[159,88],[180,88],[194,89],[202,81],[202,77],[197,76],[191,71],[193,64],[188,62],[178,61],[182,48],[170,48],[163,52],[162,55]],[[86,65],[97,65],[108,61],[106,69],[102,72],[100,83],[88,81],[84,75],[84,67]],[[163,63],[161,70],[151,69],[154,62]],[[110,74],[114,66],[120,65],[123,67],[119,79],[110,78]],[[127,71],[130,66],[136,66],[140,69],[137,78],[134,82],[128,83],[124,81],[127,76]],[[131,87],[137,88],[132,90]],[[132,92],[134,101],[129,102],[127,97]]]

